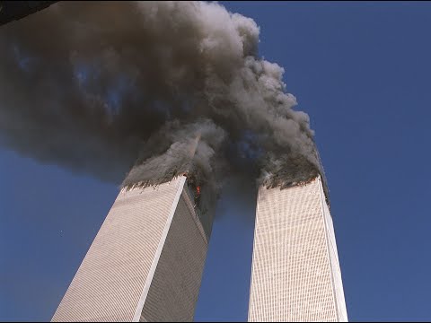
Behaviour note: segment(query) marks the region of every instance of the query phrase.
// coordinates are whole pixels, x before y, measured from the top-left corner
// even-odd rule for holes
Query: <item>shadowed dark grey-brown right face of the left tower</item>
[[[190,216],[191,215],[191,216]],[[193,321],[207,236],[184,188],[155,269],[141,321]],[[169,279],[167,279],[169,277]]]

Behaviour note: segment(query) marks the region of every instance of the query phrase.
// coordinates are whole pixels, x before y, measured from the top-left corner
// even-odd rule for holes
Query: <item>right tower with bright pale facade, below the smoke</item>
[[[259,188],[249,321],[347,321],[320,176],[291,188]]]

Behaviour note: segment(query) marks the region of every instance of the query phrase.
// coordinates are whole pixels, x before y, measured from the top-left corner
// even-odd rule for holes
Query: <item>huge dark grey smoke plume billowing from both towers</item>
[[[0,144],[125,184],[191,169],[259,171],[268,186],[319,161],[259,27],[201,2],[61,2],[0,30]],[[144,176],[144,177],[145,177]]]

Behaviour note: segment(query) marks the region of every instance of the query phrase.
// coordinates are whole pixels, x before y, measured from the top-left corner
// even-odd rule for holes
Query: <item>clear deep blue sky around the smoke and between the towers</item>
[[[349,319],[431,319],[431,3],[224,5],[312,118]],[[0,171],[0,320],[49,320],[118,188],[4,149]],[[197,320],[247,318],[254,205],[228,193]]]

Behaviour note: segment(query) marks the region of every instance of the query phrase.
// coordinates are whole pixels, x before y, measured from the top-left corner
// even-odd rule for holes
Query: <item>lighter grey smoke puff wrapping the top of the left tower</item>
[[[146,143],[142,156],[129,171],[122,187],[157,186],[186,174],[196,185],[210,182],[216,188],[217,164],[222,163],[219,161],[222,156],[216,155],[216,151],[224,142],[224,130],[211,120],[201,119],[189,125],[178,121],[168,123],[160,132]],[[160,138],[163,135],[166,136],[165,145],[170,146],[154,156],[152,147],[162,144]]]

